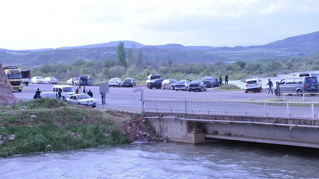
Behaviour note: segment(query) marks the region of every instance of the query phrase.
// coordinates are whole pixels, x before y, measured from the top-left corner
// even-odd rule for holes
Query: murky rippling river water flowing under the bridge
[[[0,158],[1,179],[319,178],[318,150],[234,141],[129,144]]]

